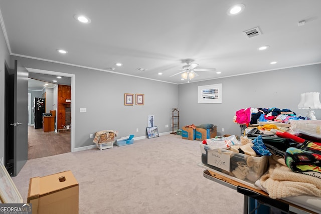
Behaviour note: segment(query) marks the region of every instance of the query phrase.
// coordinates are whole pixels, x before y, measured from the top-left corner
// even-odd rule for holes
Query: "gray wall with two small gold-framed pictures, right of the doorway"
[[[119,131],[119,137],[146,135],[148,115],[155,116],[159,133],[170,132],[172,107],[178,106],[178,85],[11,56],[26,68],[75,74],[75,148],[93,145],[90,134]],[[125,106],[124,93],[144,94],[143,106]],[[86,108],[86,113],[80,113]],[[138,128],[138,132],[136,129]]]

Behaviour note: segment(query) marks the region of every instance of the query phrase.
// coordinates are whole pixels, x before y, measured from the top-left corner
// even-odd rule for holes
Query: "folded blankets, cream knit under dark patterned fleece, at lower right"
[[[273,199],[302,194],[321,197],[321,138],[311,142],[289,132],[276,135],[295,144],[283,144],[281,149],[275,144],[284,152],[270,156],[268,171],[255,184]]]

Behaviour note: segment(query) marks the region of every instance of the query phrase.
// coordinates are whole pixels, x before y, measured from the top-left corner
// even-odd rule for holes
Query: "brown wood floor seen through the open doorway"
[[[70,152],[70,132],[44,132],[28,126],[28,159]]]

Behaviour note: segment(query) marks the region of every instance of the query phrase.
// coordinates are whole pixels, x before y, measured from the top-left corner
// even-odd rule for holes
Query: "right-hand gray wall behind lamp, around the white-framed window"
[[[182,84],[178,97],[180,124],[213,123],[218,126],[218,135],[240,135],[239,126],[233,123],[233,116],[239,109],[287,108],[306,116],[306,110],[297,108],[300,94],[321,92],[320,80],[321,64],[316,64]],[[222,83],[222,103],[198,104],[198,86],[219,83]],[[315,110],[315,116],[321,119],[321,109]]]

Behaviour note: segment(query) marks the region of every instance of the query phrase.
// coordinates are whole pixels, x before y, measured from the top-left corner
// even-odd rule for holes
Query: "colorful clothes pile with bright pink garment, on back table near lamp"
[[[245,108],[236,111],[233,121],[240,124],[257,124],[260,121],[275,121],[289,123],[290,120],[306,120],[297,116],[290,109],[279,108]]]

